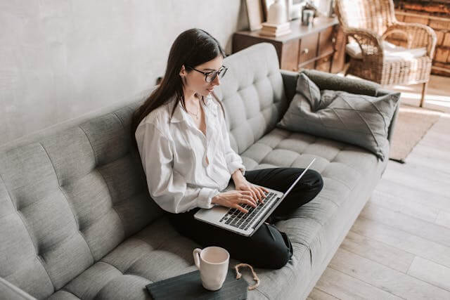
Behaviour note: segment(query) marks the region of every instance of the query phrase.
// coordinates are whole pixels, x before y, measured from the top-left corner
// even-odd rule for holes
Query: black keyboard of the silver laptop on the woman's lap
[[[241,207],[248,211],[247,214],[244,214],[238,209],[229,209],[229,211],[219,220],[219,222],[239,229],[248,230],[252,221],[257,219],[259,215],[262,214],[264,207],[267,207],[268,205],[270,206],[271,203],[277,199],[275,196],[275,193],[270,192],[266,198],[264,198],[264,204],[258,202],[257,207],[252,207],[248,204],[241,205]]]

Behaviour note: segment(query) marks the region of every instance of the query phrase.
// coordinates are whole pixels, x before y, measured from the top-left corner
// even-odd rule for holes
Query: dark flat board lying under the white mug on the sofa
[[[236,279],[236,272],[229,269],[224,285],[217,291],[205,289],[200,279],[200,271],[167,278],[146,285],[154,300],[169,299],[247,299],[248,282]]]

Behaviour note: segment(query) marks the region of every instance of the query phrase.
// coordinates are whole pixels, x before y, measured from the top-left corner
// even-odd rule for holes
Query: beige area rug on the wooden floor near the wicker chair
[[[390,159],[404,163],[406,157],[437,122],[442,112],[400,105],[390,149]]]

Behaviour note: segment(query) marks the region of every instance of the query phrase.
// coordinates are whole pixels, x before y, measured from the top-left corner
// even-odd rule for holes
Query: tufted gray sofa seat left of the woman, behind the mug
[[[162,217],[124,240],[51,299],[150,299],[149,283],[195,270],[195,247],[198,244],[176,233]]]

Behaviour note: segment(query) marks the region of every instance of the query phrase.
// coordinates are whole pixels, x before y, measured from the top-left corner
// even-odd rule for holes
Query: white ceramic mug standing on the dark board
[[[228,273],[230,254],[221,247],[195,248],[193,251],[195,266],[200,270],[200,278],[205,289],[217,291]]]

